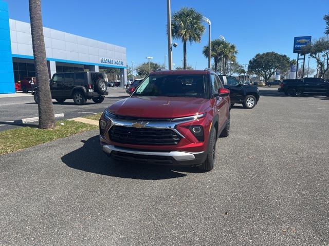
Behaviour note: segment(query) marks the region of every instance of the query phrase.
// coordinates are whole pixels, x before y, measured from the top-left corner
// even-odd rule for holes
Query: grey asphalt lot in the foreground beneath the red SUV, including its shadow
[[[329,245],[329,98],[260,90],[208,173],[114,163],[97,131],[0,156],[0,245]]]

